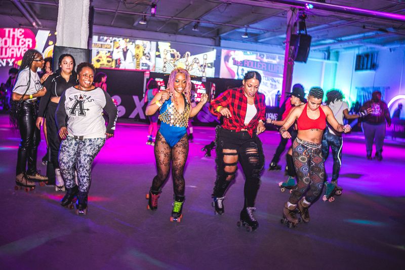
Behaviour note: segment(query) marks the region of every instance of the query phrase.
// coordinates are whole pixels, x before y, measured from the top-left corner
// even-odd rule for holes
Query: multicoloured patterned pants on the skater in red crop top
[[[302,196],[309,203],[320,195],[325,177],[320,144],[295,139],[293,160],[297,172],[297,187],[293,189],[290,203],[297,204]],[[306,193],[306,194],[305,194]]]

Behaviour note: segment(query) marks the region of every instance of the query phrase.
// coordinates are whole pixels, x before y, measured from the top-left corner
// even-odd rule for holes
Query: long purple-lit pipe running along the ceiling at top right
[[[251,6],[257,6],[257,7],[262,7],[262,8],[272,8],[271,4],[280,4],[280,5],[296,7],[296,8],[301,8],[301,9],[305,8],[305,4],[311,4],[313,6],[312,10],[323,10],[323,11],[342,13],[342,14],[347,14],[347,15],[365,16],[365,17],[378,18],[378,19],[384,19],[384,20],[396,20],[396,21],[400,21],[400,22],[405,21],[405,15],[401,15],[401,14],[375,11],[375,10],[359,9],[359,8],[354,8],[354,7],[332,5],[332,4],[327,4],[327,3],[319,3],[319,2],[305,1],[305,0],[270,0],[270,1],[222,0],[222,2],[232,3],[232,4],[251,5]]]

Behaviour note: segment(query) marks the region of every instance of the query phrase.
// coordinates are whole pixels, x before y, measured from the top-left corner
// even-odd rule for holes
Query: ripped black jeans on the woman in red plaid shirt
[[[264,166],[262,142],[256,134],[247,131],[234,132],[216,128],[217,179],[213,197],[223,197],[230,182],[235,178],[239,162],[245,174],[244,207],[254,207],[260,186],[260,174]]]

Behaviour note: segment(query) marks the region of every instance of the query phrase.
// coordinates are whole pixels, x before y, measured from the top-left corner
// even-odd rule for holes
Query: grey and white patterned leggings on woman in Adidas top
[[[59,149],[59,167],[66,188],[76,185],[74,171],[77,171],[79,191],[89,192],[94,158],[104,145],[105,138],[77,139],[67,136]]]

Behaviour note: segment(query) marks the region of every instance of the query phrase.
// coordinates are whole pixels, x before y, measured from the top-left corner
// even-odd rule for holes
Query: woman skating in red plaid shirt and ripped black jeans
[[[245,74],[242,87],[228,89],[211,102],[210,111],[223,117],[216,128],[217,177],[212,198],[215,213],[223,214],[224,196],[235,178],[239,162],[245,174],[244,206],[238,225],[255,230],[259,223],[253,212],[264,166],[262,142],[258,135],[265,131],[265,97],[258,93],[261,75],[256,71]]]

